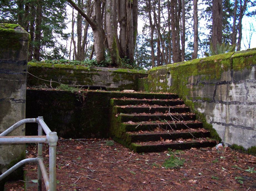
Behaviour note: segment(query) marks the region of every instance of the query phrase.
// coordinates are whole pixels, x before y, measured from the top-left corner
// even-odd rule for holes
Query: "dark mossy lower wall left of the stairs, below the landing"
[[[142,93],[132,93],[142,98]],[[130,97],[118,91],[84,91],[27,89],[26,118],[43,116],[52,131],[63,138],[108,138],[110,99]],[[36,108],[36,109],[35,109]],[[26,135],[37,134],[37,125],[26,124]]]

